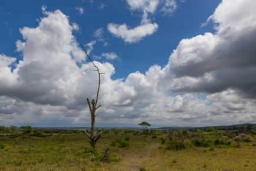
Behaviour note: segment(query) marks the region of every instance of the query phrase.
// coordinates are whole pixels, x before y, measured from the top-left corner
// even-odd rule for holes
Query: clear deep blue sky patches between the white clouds
[[[154,64],[164,67],[169,55],[183,38],[214,32],[212,23],[206,27],[201,27],[201,24],[213,14],[219,2],[177,1],[176,9],[165,16],[156,10],[150,18],[159,25],[157,31],[130,44],[107,31],[109,23],[126,23],[131,28],[140,25],[142,11],[130,10],[126,1],[2,1],[1,25],[4,27],[1,28],[1,38],[5,41],[1,41],[1,52],[12,57],[20,55],[15,52],[15,41],[22,40],[19,28],[37,27],[37,19],[44,17],[41,8],[45,5],[47,11],[60,9],[68,15],[70,22],[79,25],[80,30],[74,33],[77,42],[87,44],[97,41],[94,32],[101,28],[105,41],[97,41],[92,53],[99,56],[103,52],[116,52],[120,60],[111,61],[116,69],[112,77],[126,78],[135,71],[145,73]],[[78,9],[83,9],[83,14]],[[108,44],[106,47],[103,46],[104,42]]]

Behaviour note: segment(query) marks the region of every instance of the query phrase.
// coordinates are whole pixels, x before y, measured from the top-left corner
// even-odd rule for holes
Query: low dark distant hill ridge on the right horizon
[[[253,123],[243,123],[243,124],[233,124],[233,125],[229,125],[229,126],[206,126],[206,127],[160,127],[158,129],[161,129],[161,130],[179,130],[179,129],[183,129],[183,130],[191,130],[191,129],[201,129],[201,130],[204,130],[204,129],[208,129],[208,127],[213,127],[214,129],[221,129],[221,128],[226,128],[226,129],[229,129],[229,128],[233,128],[233,127],[245,127],[247,126],[247,124],[250,124],[251,126],[256,126],[256,124],[253,124]]]

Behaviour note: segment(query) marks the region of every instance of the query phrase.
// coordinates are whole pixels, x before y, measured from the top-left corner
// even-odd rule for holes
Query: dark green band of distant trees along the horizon
[[[165,130],[165,129],[97,129],[97,131],[104,131],[104,134],[133,134],[133,135],[163,135],[169,134],[172,130]],[[182,129],[180,129],[182,130]],[[90,133],[90,129],[87,129],[88,133]],[[177,130],[178,131],[178,130]],[[188,130],[191,133],[201,132],[201,133],[251,133],[256,134],[256,127],[252,126],[251,124],[247,124],[244,127],[233,127],[233,128],[218,128],[214,129],[214,127],[208,127],[208,129],[191,129]],[[83,134],[84,130],[76,130],[76,129],[44,129],[44,128],[36,128],[31,126],[0,126],[0,134],[7,135],[7,136],[18,136],[18,135],[31,135],[31,136],[44,136],[44,135],[51,135],[51,134]]]

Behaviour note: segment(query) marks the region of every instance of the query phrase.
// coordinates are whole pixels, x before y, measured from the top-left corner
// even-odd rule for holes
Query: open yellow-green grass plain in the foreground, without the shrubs
[[[0,170],[256,170],[254,142],[232,141],[229,146],[166,150],[164,135],[130,135],[129,147],[114,146],[127,135],[105,134],[97,143],[99,152],[109,152],[113,162],[85,153],[90,148],[85,134],[52,134],[46,137],[0,137]],[[162,140],[161,140],[162,138]]]

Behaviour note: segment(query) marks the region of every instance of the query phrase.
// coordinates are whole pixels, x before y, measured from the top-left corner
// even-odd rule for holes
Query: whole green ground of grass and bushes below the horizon
[[[251,126],[116,129],[104,131],[96,148],[80,130],[0,128],[0,170],[256,170]]]

